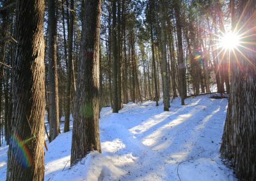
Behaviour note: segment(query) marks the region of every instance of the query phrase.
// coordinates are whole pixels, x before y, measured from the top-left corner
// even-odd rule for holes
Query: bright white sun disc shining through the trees
[[[241,38],[236,33],[226,33],[220,37],[219,45],[221,48],[224,48],[225,50],[234,50],[241,44],[240,39]]]

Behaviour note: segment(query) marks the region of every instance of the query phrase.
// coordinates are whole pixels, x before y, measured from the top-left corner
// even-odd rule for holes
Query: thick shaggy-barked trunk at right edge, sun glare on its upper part
[[[234,1],[231,1],[232,17]],[[239,1],[236,4],[237,25],[234,32],[242,35],[244,48],[234,52],[231,61],[231,84],[220,152],[230,159],[241,180],[256,180],[256,45],[255,45],[255,6],[256,1]]]

